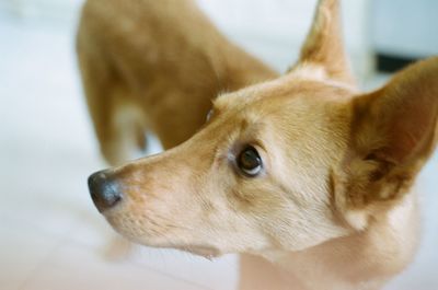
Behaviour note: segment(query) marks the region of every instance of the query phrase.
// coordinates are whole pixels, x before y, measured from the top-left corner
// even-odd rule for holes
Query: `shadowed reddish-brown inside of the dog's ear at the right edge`
[[[388,85],[355,100],[351,132],[365,159],[410,166],[435,148],[438,58],[396,74]]]

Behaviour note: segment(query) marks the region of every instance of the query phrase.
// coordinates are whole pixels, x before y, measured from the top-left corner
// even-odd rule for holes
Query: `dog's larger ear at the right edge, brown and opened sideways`
[[[438,58],[411,66],[384,88],[354,98],[350,144],[337,184],[341,207],[372,214],[399,201],[434,152],[437,120]],[[366,217],[354,223],[361,228]]]

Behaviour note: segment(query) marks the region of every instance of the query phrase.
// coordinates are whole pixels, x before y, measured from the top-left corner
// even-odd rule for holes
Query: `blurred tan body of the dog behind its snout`
[[[219,33],[191,0],[89,0],[78,56],[101,151],[111,164],[164,149],[205,123],[211,100],[276,73]]]

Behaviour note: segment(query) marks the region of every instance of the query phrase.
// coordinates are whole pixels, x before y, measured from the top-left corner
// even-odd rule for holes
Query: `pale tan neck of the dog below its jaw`
[[[380,289],[413,258],[417,242],[406,237],[418,235],[417,214],[417,198],[411,193],[364,231],[304,251],[270,252],[264,257],[290,286],[280,289]]]

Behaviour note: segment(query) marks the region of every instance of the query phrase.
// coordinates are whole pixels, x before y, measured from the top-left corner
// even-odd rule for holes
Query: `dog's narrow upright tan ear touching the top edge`
[[[303,65],[322,68],[333,80],[355,83],[344,48],[338,0],[320,0],[300,58],[291,71]]]

